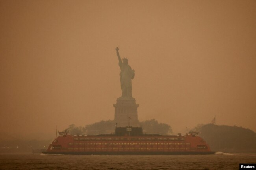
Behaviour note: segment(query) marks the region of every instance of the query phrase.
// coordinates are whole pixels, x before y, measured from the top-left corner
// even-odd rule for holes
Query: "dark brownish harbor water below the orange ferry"
[[[256,154],[0,154],[0,170],[238,170],[239,163],[256,163]]]

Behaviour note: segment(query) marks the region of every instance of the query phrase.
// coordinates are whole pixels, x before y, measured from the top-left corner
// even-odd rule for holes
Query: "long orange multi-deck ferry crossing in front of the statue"
[[[116,127],[114,134],[59,136],[43,154],[73,155],[192,155],[214,154],[206,142],[191,132],[186,135],[143,134],[141,127]]]

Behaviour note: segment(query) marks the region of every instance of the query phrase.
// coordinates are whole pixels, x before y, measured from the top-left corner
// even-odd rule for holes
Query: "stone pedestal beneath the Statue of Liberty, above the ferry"
[[[115,107],[115,123],[118,127],[133,126],[139,127],[137,108],[134,98],[119,97]]]

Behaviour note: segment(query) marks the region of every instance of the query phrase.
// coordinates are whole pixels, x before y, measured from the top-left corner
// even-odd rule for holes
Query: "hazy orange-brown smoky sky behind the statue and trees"
[[[255,0],[0,0],[1,133],[114,119],[115,47],[140,121],[256,131]]]

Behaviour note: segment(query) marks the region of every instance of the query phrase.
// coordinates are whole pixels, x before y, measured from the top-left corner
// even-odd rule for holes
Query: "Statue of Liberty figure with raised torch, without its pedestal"
[[[134,69],[128,64],[128,58],[120,58],[119,48],[115,49],[117,51],[117,57],[120,66],[120,82],[122,89],[122,98],[132,98],[132,79],[134,79]]]

